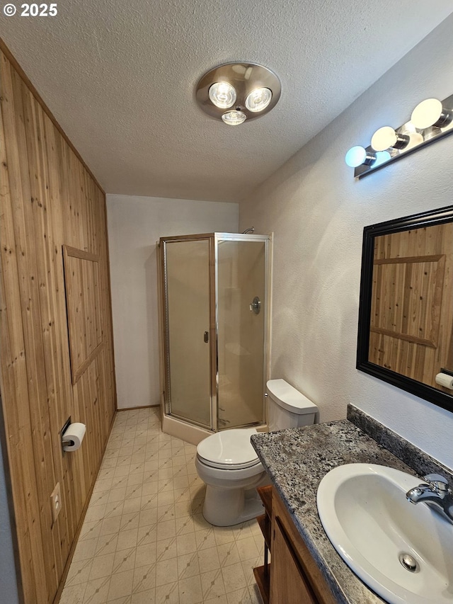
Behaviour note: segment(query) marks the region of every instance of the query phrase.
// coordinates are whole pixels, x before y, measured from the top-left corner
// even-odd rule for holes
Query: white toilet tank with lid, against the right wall
[[[318,407],[285,380],[269,380],[266,394],[270,432],[314,423]]]

